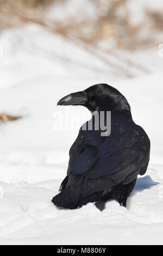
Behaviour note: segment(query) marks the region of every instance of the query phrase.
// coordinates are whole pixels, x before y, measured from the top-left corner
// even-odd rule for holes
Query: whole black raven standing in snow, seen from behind
[[[105,202],[117,200],[126,207],[127,198],[133,191],[137,175],[146,173],[150,141],[141,126],[132,119],[127,99],[108,84],[95,84],[83,92],[63,97],[58,105],[82,105],[91,113],[111,111],[111,133],[102,136],[95,129],[92,114],[92,130],[79,130],[70,149],[67,176],[62,181],[60,193],[52,199],[54,205],[76,209],[95,202],[99,210]],[[100,119],[100,118],[99,118]]]

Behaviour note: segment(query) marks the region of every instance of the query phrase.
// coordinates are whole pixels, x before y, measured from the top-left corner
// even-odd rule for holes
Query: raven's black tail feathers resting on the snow
[[[73,176],[70,178],[72,179]],[[105,193],[109,193],[112,191],[112,187],[115,186],[113,180],[105,177],[89,180],[83,178],[81,180],[74,179],[76,182],[73,182],[73,184],[78,186],[70,187],[67,184],[67,178],[65,178],[66,181],[64,180],[61,185],[61,192],[52,199],[54,205],[67,209],[76,209],[87,203],[98,202],[105,190]]]

